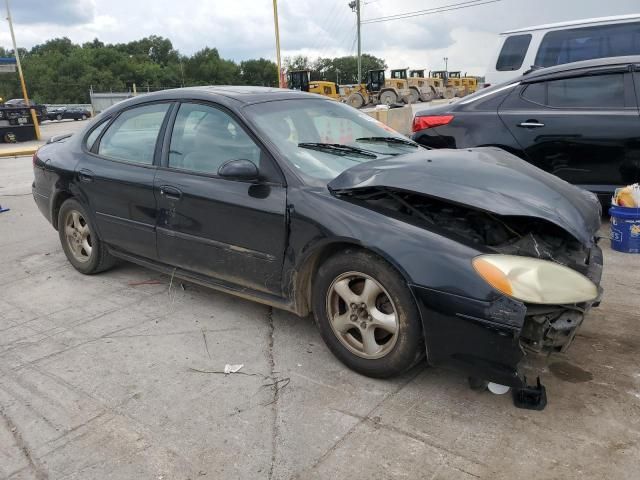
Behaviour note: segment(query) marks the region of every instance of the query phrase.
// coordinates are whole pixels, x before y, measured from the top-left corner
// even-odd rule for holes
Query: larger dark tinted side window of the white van
[[[640,22],[573,28],[547,33],[535,64],[551,67],[593,58],[640,54]]]

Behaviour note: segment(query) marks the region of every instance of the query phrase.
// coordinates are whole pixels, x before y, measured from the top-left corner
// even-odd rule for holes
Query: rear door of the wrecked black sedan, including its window
[[[96,127],[87,137],[90,151],[76,171],[102,240],[147,258],[157,257],[153,179],[158,138],[171,105],[128,108],[108,125]]]

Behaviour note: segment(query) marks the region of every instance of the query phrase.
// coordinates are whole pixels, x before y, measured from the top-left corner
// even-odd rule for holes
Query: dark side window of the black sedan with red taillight
[[[624,75],[608,74],[547,82],[551,107],[623,108]]]

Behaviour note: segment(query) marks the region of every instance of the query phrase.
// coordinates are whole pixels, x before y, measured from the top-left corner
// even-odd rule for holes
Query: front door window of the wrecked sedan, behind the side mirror
[[[260,167],[260,157],[260,147],[224,111],[196,103],[180,106],[171,133],[169,167],[215,175],[228,160],[250,160]]]

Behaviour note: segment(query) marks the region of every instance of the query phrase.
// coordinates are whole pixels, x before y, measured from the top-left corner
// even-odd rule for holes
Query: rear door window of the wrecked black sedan
[[[153,164],[153,156],[169,104],[135,107],[122,112],[100,140],[98,154],[144,165]]]

